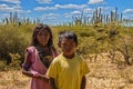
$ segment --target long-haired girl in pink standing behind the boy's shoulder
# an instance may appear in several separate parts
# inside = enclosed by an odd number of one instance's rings
[[[22,73],[32,78],[30,89],[51,89],[45,72],[57,57],[49,26],[39,23],[33,31],[31,46],[27,48]]]

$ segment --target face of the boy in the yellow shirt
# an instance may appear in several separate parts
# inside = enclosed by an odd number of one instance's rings
[[[78,47],[76,42],[73,39],[63,38],[60,47],[62,49],[63,55],[72,56]]]

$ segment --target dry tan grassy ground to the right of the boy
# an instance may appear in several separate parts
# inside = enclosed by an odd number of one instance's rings
[[[112,63],[108,55],[86,61],[91,70],[86,89],[133,89],[133,66]]]

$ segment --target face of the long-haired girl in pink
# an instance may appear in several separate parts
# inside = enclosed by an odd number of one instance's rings
[[[48,30],[40,30],[37,33],[37,40],[42,47],[47,46],[49,39],[50,39],[50,33]]]

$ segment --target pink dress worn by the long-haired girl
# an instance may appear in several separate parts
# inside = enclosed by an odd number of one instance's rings
[[[31,55],[28,58],[28,60],[31,61],[30,70],[35,73],[45,75],[48,69],[41,61],[38,50],[34,47],[29,47],[27,51]],[[53,52],[53,50],[52,50],[52,53],[53,53],[53,57],[57,57],[57,53]],[[50,88],[50,85],[44,80],[32,78],[30,89],[51,89],[51,88]]]

